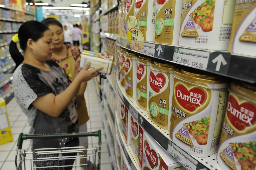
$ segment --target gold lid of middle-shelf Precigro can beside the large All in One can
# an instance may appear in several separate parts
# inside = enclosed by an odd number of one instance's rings
[[[159,71],[171,72],[174,71],[177,66],[174,64],[167,64],[167,61],[154,60],[150,63],[150,68],[157,69]]]

